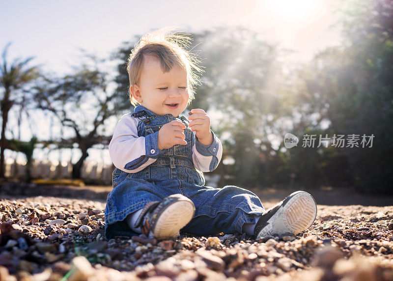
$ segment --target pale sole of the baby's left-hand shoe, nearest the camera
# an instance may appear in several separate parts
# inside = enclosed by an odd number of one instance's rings
[[[194,213],[195,206],[191,200],[170,204],[157,219],[154,236],[158,239],[177,237],[180,229],[192,220]]]

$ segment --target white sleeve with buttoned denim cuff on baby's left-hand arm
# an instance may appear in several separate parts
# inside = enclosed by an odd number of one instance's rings
[[[164,153],[158,148],[158,132],[146,137],[138,137],[139,121],[129,113],[124,114],[114,128],[109,143],[109,154],[113,165],[129,173],[139,172]]]

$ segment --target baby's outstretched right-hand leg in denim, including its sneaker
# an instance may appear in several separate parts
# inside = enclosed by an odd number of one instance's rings
[[[306,192],[294,193],[265,211],[255,194],[239,187],[194,186],[185,190],[197,211],[183,230],[199,235],[240,232],[259,238],[297,234],[307,229],[316,216],[315,200]]]

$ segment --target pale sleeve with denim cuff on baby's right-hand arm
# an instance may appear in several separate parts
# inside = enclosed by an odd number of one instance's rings
[[[223,155],[223,145],[217,136],[213,133],[213,143],[210,145],[203,145],[197,140],[195,132],[195,143],[193,145],[193,162],[195,168],[202,172],[211,172],[217,168]]]

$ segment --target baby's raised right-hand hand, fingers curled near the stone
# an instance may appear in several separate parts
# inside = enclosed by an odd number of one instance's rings
[[[192,109],[188,116],[191,121],[188,124],[192,131],[195,131],[195,135],[198,141],[203,145],[210,145],[213,143],[213,135],[210,132],[210,117],[202,109]]]

